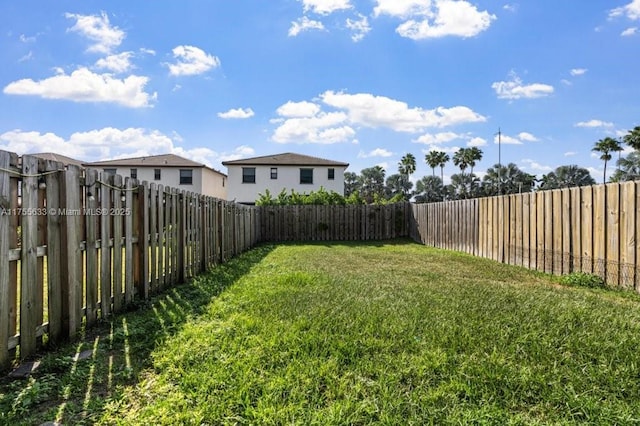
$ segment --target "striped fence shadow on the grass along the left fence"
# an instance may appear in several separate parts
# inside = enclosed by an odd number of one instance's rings
[[[26,379],[0,379],[0,424],[98,420],[105,404],[117,403],[126,387],[145,380],[158,345],[200,316],[272,249],[257,247],[86,330],[76,342],[43,355]]]

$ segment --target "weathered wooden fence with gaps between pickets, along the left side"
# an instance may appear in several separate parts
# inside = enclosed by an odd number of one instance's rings
[[[260,240],[255,207],[0,151],[0,368]]]

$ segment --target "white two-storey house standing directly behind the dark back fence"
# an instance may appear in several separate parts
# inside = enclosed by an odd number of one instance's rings
[[[349,163],[285,153],[224,161],[228,170],[227,194],[238,203],[255,204],[268,189],[277,196],[284,189],[298,193],[327,191],[344,194],[344,172]]]

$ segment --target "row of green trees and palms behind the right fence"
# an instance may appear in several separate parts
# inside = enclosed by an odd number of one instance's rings
[[[633,151],[621,156],[624,145]],[[611,175],[611,182],[640,179],[640,126],[630,130],[620,140],[606,137],[597,141],[592,149],[600,154],[604,162],[603,183],[606,182],[607,165],[618,153],[617,169]],[[494,195],[517,194],[535,190],[551,190],[575,186],[594,185],[595,179],[586,168],[577,165],[563,165],[538,179],[535,175],[522,171],[514,163],[494,164],[480,179],[473,168],[482,160],[483,152],[478,147],[460,148],[451,157],[443,151],[430,151],[424,157],[432,169],[431,176],[425,176],[415,184],[410,177],[415,172],[417,161],[413,154],[406,154],[398,163],[398,172],[386,176],[380,166],[363,169],[360,174],[345,173],[345,197],[357,194],[365,202],[381,199],[414,199],[417,203],[444,200],[461,200]],[[460,173],[451,176],[451,183],[444,184],[444,167],[451,161]],[[439,176],[436,175],[439,169]]]

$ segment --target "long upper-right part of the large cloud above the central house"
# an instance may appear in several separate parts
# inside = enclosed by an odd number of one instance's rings
[[[350,95],[326,91],[320,95],[329,106],[345,110],[349,120],[366,127],[387,127],[398,132],[415,133],[429,127],[484,122],[486,118],[465,106],[438,107],[432,110],[410,108],[405,102],[368,93]]]

